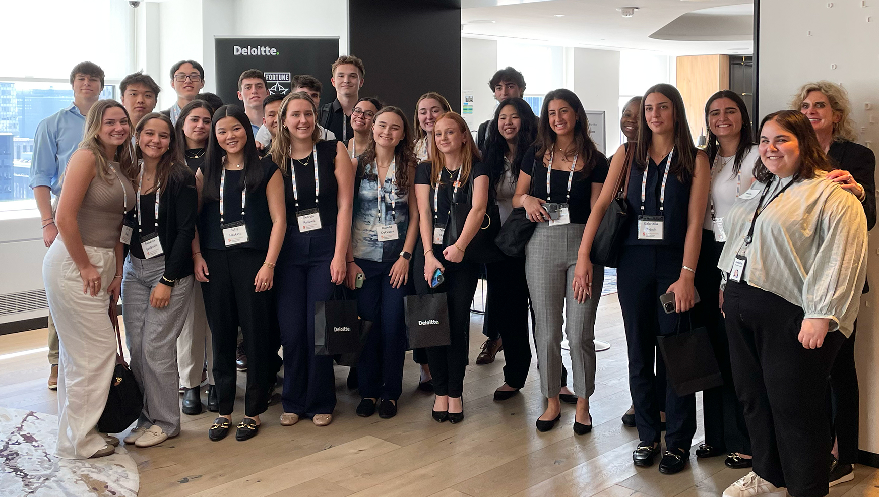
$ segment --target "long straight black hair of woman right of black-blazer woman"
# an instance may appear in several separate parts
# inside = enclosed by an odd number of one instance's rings
[[[214,113],[211,118],[211,136],[207,143],[207,156],[205,164],[202,166],[202,174],[205,175],[204,186],[202,186],[202,196],[209,200],[219,200],[220,198],[220,174],[223,168],[223,158],[226,157],[226,150],[222,150],[220,142],[217,140],[216,128],[217,122],[225,117],[234,118],[240,122],[247,133],[247,142],[244,143],[244,173],[238,183],[239,186],[247,185],[247,190],[253,192],[256,190],[263,180],[262,168],[259,166],[259,154],[257,145],[253,140],[253,128],[251,128],[251,120],[247,118],[247,114],[237,106],[222,106]]]

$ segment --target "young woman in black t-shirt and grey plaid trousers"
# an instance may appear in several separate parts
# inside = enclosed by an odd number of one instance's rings
[[[550,91],[543,99],[537,141],[525,152],[512,198],[513,206],[524,207],[528,218],[540,223],[525,247],[525,274],[537,322],[534,341],[541,365],[541,392],[548,399],[547,410],[537,419],[540,431],[549,431],[562,417],[563,323],[578,397],[574,433],[592,430],[589,396],[595,390],[595,312],[601,292],[586,296],[571,287],[577,245],[570,240],[583,237],[605,177],[607,158],[589,137],[580,99],[570,90]],[[548,202],[555,209],[544,208]],[[604,268],[596,269],[595,277],[600,289]]]

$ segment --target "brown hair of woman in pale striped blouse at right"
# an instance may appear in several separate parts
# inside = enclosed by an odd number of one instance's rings
[[[833,169],[830,160],[821,144],[818,143],[818,137],[815,135],[815,129],[812,123],[804,113],[800,111],[778,111],[771,113],[763,118],[760,122],[760,133],[763,133],[763,126],[769,122],[775,121],[781,128],[794,135],[796,141],[800,144],[800,169],[794,173],[794,178],[812,179],[815,178],[815,170],[831,171]],[[754,178],[760,183],[767,183],[773,179],[773,172],[766,168],[763,164],[763,157],[754,164]]]

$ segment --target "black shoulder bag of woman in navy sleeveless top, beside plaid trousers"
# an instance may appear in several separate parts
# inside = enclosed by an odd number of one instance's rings
[[[620,245],[622,239],[626,236],[626,228],[628,221],[628,206],[626,205],[626,196],[628,195],[628,178],[632,172],[632,160],[635,156],[635,146],[629,146],[626,143],[626,157],[623,159],[623,169],[625,174],[620,173],[617,179],[616,194],[614,200],[607,206],[604,217],[601,218],[598,232],[592,240],[592,250],[589,252],[589,259],[592,264],[604,267],[616,267],[620,257]],[[623,181],[625,177],[625,181]]]

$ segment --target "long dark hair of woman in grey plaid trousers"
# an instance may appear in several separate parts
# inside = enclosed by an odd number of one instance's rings
[[[574,111],[577,116],[577,122],[574,123],[574,145],[577,150],[570,150],[583,157],[583,169],[580,176],[585,178],[592,172],[595,167],[596,158],[600,152],[595,142],[589,137],[589,121],[586,119],[586,111],[577,95],[566,88],[559,88],[547,93],[543,98],[543,106],[541,108],[541,120],[537,125],[537,139],[534,142],[535,158],[543,160],[543,156],[547,150],[553,150],[556,143],[556,132],[549,126],[549,102],[553,100],[564,100]],[[565,150],[565,158],[568,158],[569,150]],[[552,167],[552,164],[549,164]]]

